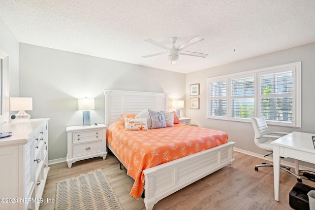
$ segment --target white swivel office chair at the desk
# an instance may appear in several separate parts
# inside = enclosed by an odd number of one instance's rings
[[[255,144],[259,147],[262,148],[266,151],[271,152],[270,154],[272,154],[273,152],[273,148],[272,148],[272,144],[270,142],[272,142],[273,140],[276,140],[278,138],[280,138],[281,136],[284,136],[288,133],[285,132],[269,132],[269,128],[267,126],[267,123],[265,121],[264,117],[254,117],[252,118],[252,126],[254,128],[254,132],[255,132]],[[264,157],[270,155],[267,154]],[[255,165],[255,171],[258,171],[258,167],[261,166],[271,166],[273,167],[273,164],[271,163],[262,163],[259,165]],[[280,166],[280,168],[288,173],[290,173],[291,175],[294,175],[295,177],[297,177],[297,180],[299,182],[302,182],[302,179],[299,175],[296,175],[294,173],[292,173],[290,171],[289,167],[285,167],[285,166]]]

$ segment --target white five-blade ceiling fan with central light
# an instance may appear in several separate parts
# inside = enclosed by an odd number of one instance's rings
[[[167,55],[167,59],[171,61],[171,64],[176,64],[176,61],[179,59],[179,55],[189,55],[189,56],[196,56],[196,57],[201,57],[201,58],[205,58],[207,57],[208,54],[204,54],[204,53],[197,53],[197,52],[189,52],[189,51],[184,51],[183,49],[189,47],[190,45],[197,43],[198,41],[203,40],[204,38],[201,38],[199,36],[196,36],[186,42],[184,42],[183,44],[179,45],[178,47],[175,47],[175,43],[177,41],[177,37],[171,37],[170,41],[173,43],[173,46],[171,48],[164,46],[163,44],[158,43],[155,40],[152,40],[151,38],[145,39],[146,42],[149,42],[151,44],[157,45],[159,47],[162,47],[164,49],[166,49],[166,52],[161,52],[161,53],[156,53],[156,54],[152,54],[152,55],[146,55],[146,56],[142,56],[143,58],[149,58],[149,57],[153,57],[153,56],[157,56],[157,55],[162,55],[162,54],[166,54]]]

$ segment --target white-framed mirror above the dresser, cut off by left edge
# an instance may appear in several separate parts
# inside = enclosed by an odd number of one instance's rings
[[[0,49],[0,124],[9,118],[9,56]]]

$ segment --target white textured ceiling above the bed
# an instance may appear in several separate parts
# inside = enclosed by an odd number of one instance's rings
[[[0,0],[18,41],[188,73],[315,41],[315,0]],[[172,65],[164,52],[204,37]]]

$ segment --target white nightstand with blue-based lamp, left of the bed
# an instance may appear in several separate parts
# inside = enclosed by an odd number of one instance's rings
[[[72,163],[88,158],[103,157],[106,152],[106,128],[104,124],[91,126],[69,126],[68,133],[68,153],[66,162],[71,168]]]

